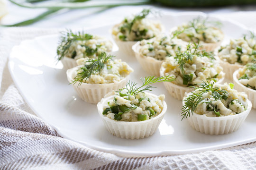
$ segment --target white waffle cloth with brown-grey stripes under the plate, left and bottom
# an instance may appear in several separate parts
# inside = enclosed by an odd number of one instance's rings
[[[0,30],[0,170],[253,170],[256,143],[218,151],[159,157],[124,158],[62,138],[35,116],[19,94],[7,68],[11,47],[59,30]]]

